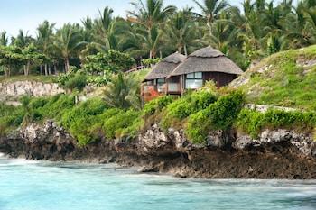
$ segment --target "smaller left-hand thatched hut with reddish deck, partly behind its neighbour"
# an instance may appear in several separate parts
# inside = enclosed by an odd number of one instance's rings
[[[170,94],[172,94],[172,90],[176,93],[180,91],[179,83],[174,84],[170,81],[170,87],[168,88],[166,78],[183,62],[185,58],[186,57],[181,53],[175,52],[164,58],[153,67],[153,70],[146,76],[146,78],[144,78],[141,88],[144,101],[149,101],[156,96],[165,95],[167,89],[170,90]]]

